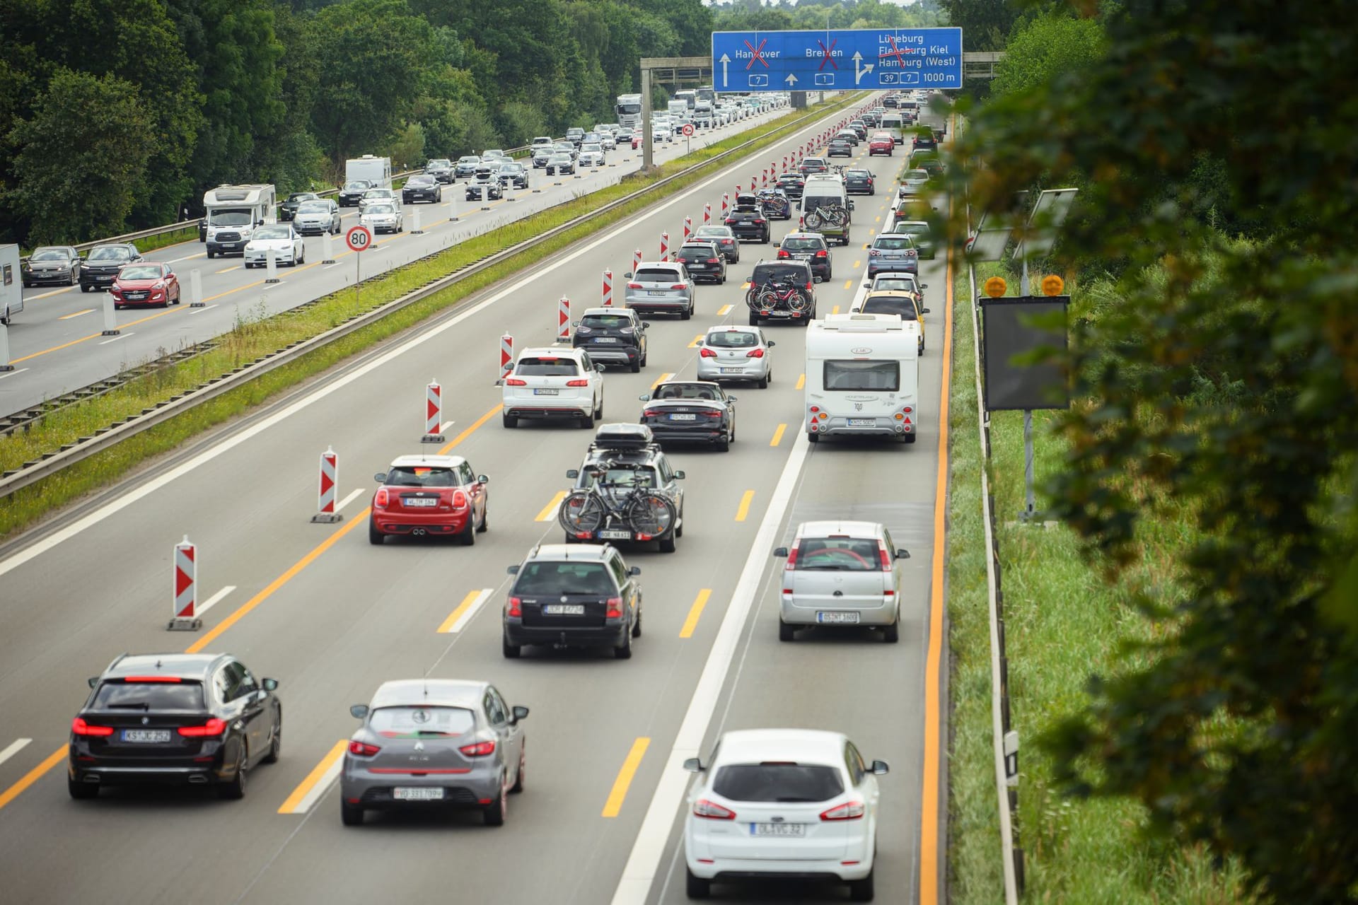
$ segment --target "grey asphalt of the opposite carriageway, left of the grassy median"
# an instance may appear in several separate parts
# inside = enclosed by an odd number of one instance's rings
[[[706,147],[746,129],[767,123],[789,113],[788,107],[747,117],[720,129],[699,130],[691,138],[693,148]],[[656,163],[664,163],[686,152],[683,137],[656,145]],[[767,166],[767,160],[765,161]],[[527,166],[527,164],[526,164]],[[213,258],[208,261],[206,246],[186,242],[147,252],[147,261],[168,262],[179,275],[183,304],[170,308],[128,308],[114,312],[121,331],[105,336],[105,301],[107,293],[80,292],[80,286],[34,286],[23,290],[24,309],[10,326],[10,361],[12,372],[0,373],[0,414],[11,414],[43,399],[87,387],[145,361],[202,342],[231,330],[240,320],[257,320],[265,315],[293,308],[353,285],[359,275],[378,273],[406,265],[471,236],[488,232],[513,220],[527,217],[573,197],[617,185],[630,172],[641,168],[641,149],[630,145],[608,153],[603,167],[581,168],[574,176],[547,176],[546,170],[530,170],[528,190],[519,189],[509,199],[489,202],[466,201],[460,180],[443,190],[440,204],[405,205],[405,232],[375,236],[372,248],[354,255],[345,247],[344,233],[331,239],[331,254],[326,254],[325,236],[307,236],[306,263],[297,267],[278,267],[278,282],[266,284],[263,269],[246,270],[240,258]],[[717,202],[720,205],[720,197]],[[713,205],[713,210],[718,210]],[[357,208],[342,208],[342,228],[359,223]],[[697,214],[701,217],[702,210]],[[414,235],[414,217],[420,217],[422,235]],[[456,223],[449,217],[458,217]],[[675,236],[678,233],[671,233]],[[656,242],[659,242],[659,235]],[[626,258],[611,262],[617,274],[627,270],[631,248]],[[646,248],[650,254],[659,250]],[[361,258],[361,262],[356,261]],[[333,265],[323,263],[334,261]],[[197,271],[202,282],[202,308],[190,308],[191,274]],[[591,296],[591,299],[595,296]],[[619,296],[621,299],[621,296]]]

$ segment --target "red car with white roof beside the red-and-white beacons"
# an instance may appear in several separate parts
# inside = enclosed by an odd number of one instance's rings
[[[485,475],[477,475],[462,456],[401,456],[378,475],[372,495],[368,541],[387,535],[456,537],[464,547],[477,543],[486,521]]]

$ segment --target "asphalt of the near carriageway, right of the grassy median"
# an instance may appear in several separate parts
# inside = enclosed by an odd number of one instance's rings
[[[807,132],[813,132],[808,129]],[[781,157],[804,136],[759,152]],[[865,145],[860,156],[866,151]],[[854,240],[835,248],[822,315],[861,292],[865,243],[889,221],[904,156],[861,160],[881,191],[858,198]],[[551,342],[555,301],[626,270],[758,161],[736,164],[599,237],[564,251],[454,312],[345,365],[293,396],[144,469],[79,512],[0,550],[0,898],[12,902],[391,902],[448,900],[641,905],[683,894],[683,757],[718,733],[755,726],[837,729],[883,758],[877,901],[937,901],[942,860],[938,741],[942,659],[940,400],[947,396],[942,256],[923,262],[928,351],[919,441],[822,442],[801,431],[805,331],[771,326],[774,380],[736,387],[729,453],[671,450],[687,472],[675,554],[625,548],[642,570],[645,635],[630,661],[608,651],[500,653],[505,566],[557,543],[553,512],[592,431],[505,430],[496,379],[507,326]],[[778,223],[777,240],[792,224]],[[405,242],[405,240],[402,240]],[[746,323],[741,281],[775,246],[746,246],[725,286],[698,290],[690,322],[649,317],[650,358],[606,376],[606,421],[634,421],[637,396],[691,377],[710,324]],[[213,262],[216,263],[216,262]],[[80,301],[76,296],[72,303]],[[178,316],[178,315],[177,315]],[[424,385],[444,385],[449,452],[490,478],[490,531],[475,547],[368,544],[372,474],[429,450]],[[316,457],[340,455],[344,521],[310,521]],[[796,522],[885,522],[903,563],[900,643],[850,630],[777,640],[781,560]],[[198,544],[202,631],[168,634],[171,550]],[[440,631],[443,630],[443,631]],[[69,720],[86,678],[121,651],[230,651],[277,677],[282,758],[250,773],[243,801],[212,790],[106,790],[77,802],[64,784]],[[527,782],[508,822],[479,814],[371,813],[340,822],[333,783],[356,723],[348,708],[384,680],[483,678],[526,704]],[[945,735],[944,735],[945,737]],[[717,887],[722,901],[842,900],[842,887]]]

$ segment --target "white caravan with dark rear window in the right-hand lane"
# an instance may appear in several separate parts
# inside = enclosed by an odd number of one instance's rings
[[[919,324],[898,315],[827,315],[807,327],[807,440],[919,431]]]

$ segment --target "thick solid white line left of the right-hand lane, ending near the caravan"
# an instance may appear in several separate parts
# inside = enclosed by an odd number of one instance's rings
[[[774,487],[773,498],[769,501],[769,510],[763,521],[759,522],[759,532],[750,547],[750,556],[740,571],[740,581],[731,597],[731,606],[721,620],[717,638],[712,643],[708,662],[702,668],[702,676],[694,688],[689,710],[684,712],[679,734],[675,735],[674,748],[660,773],[656,792],[650,796],[650,806],[641,821],[641,830],[637,841],[631,845],[631,855],[622,868],[622,879],[612,894],[612,905],[645,905],[650,894],[650,885],[660,867],[660,859],[669,840],[669,829],[675,822],[675,813],[683,802],[684,791],[689,787],[689,773],[683,769],[683,763],[689,757],[698,757],[703,735],[712,725],[712,716],[717,710],[717,700],[721,696],[721,687],[727,681],[727,673],[736,655],[736,644],[744,631],[746,620],[759,593],[759,578],[769,564],[769,551],[782,518],[792,503],[792,491],[801,475],[801,465],[807,460],[811,444],[793,442],[788,464],[782,468],[778,484]]]

